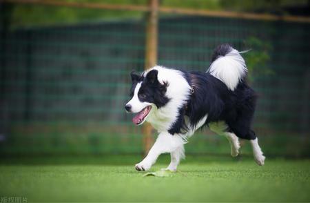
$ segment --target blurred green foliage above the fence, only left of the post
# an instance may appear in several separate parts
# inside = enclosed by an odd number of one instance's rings
[[[72,0],[71,0],[72,1]],[[145,4],[146,0],[76,0],[76,2],[113,3],[113,4]],[[142,17],[143,12],[119,10],[94,10],[87,8],[68,8],[61,6],[40,6],[13,4],[11,28],[23,26],[49,26],[61,23],[83,23],[99,19]]]

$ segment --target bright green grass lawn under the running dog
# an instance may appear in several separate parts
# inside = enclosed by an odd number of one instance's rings
[[[134,170],[140,161],[136,156],[60,160],[2,159],[0,196],[29,202],[310,201],[309,160],[267,159],[260,167],[252,159],[228,155],[188,157],[172,177],[143,177]],[[167,164],[164,156],[152,171]]]

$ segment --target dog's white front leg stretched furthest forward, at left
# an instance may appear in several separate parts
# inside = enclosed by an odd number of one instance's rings
[[[156,162],[159,155],[162,153],[171,153],[178,147],[183,146],[185,141],[179,135],[171,135],[168,132],[160,133],[155,144],[149,150],[147,156],[142,162],[136,164],[136,170],[147,171]]]

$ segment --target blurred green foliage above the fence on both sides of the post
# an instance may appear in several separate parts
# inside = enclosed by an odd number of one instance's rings
[[[146,5],[147,0],[69,0],[70,2],[113,3]],[[208,10],[232,10],[286,14],[286,6],[306,6],[307,0],[162,0],[161,6]],[[3,6],[4,7],[4,6]],[[49,26],[63,23],[100,21],[101,19],[141,18],[143,12],[93,10],[54,6],[10,4],[2,17],[8,19],[10,28],[23,26]],[[3,12],[3,11],[2,11]],[[4,13],[4,12],[3,12]]]

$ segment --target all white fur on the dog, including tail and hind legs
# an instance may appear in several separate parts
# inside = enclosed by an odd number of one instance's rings
[[[182,72],[179,70],[168,69],[161,66],[155,66],[143,73],[144,77],[150,70],[158,70],[158,81],[161,84],[168,83],[165,96],[170,101],[162,108],[157,108],[154,104],[147,102],[141,102],[138,99],[138,90],[141,88],[142,82],[136,85],[134,90],[134,97],[127,103],[132,105],[132,111],[138,113],[146,106],[152,105],[152,110],[147,115],[146,120],[156,130],[159,135],[155,144],[150,149],[149,153],[143,161],[136,164],[136,169],[139,171],[147,171],[156,162],[159,155],[162,153],[170,153],[171,162],[166,168],[169,171],[176,171],[176,168],[181,159],[185,158],[184,144],[187,143],[187,139],[194,134],[194,132],[205,124],[207,115],[201,119],[196,126],[189,126],[188,117],[185,117],[185,124],[189,127],[189,131],[185,135],[174,134],[170,135],[167,131],[176,122],[178,117],[178,108],[183,106],[190,95],[191,87],[183,77]],[[209,71],[211,75],[217,77],[223,81],[227,87],[234,90],[238,85],[238,82],[247,72],[245,67],[245,61],[240,56],[237,50],[232,50],[225,57],[216,59],[211,64]],[[225,132],[227,125],[225,122],[217,122],[209,124],[211,131],[214,131],[218,135],[224,135],[231,145],[231,155],[237,156],[239,153],[240,144],[238,137],[234,133]],[[258,146],[257,139],[252,140],[254,158],[259,165],[264,164],[265,157],[262,155],[262,151]]]

